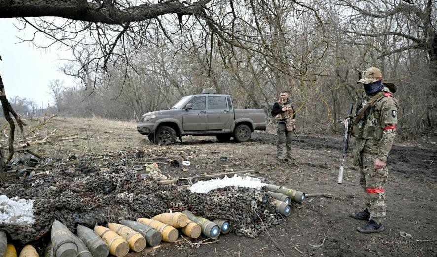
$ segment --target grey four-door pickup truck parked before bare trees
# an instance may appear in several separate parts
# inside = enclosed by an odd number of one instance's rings
[[[216,136],[220,142],[251,138],[254,130],[266,129],[264,109],[234,109],[229,95],[204,89],[202,94],[184,96],[170,109],[141,116],[138,132],[155,144],[182,142],[182,136]]]

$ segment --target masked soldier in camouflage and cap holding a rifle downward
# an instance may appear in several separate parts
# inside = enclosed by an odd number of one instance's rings
[[[367,97],[352,122],[352,135],[356,137],[353,155],[354,165],[360,168],[360,184],[368,209],[351,216],[368,220],[357,227],[359,232],[376,233],[384,230],[381,221],[386,217],[386,161],[395,139],[398,102],[392,95],[395,85],[383,83],[378,68],[366,69],[358,83],[363,84]]]

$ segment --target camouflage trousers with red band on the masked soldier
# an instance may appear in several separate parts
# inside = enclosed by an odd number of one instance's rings
[[[387,181],[387,166],[374,169],[376,154],[362,153],[362,166],[360,166],[360,185],[364,190],[364,203],[369,207],[370,219],[381,223],[386,217],[386,202],[384,184]]]

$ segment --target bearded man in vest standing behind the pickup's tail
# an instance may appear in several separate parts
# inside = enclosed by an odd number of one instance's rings
[[[290,162],[294,158],[291,157],[291,139],[293,129],[295,129],[296,113],[294,112],[291,100],[288,98],[286,91],[279,94],[281,97],[279,101],[275,102],[272,107],[272,116],[275,117],[278,122],[276,133],[278,135],[278,143],[276,145],[277,159],[279,161]],[[286,156],[282,157],[282,151],[284,147],[284,141],[286,141]]]

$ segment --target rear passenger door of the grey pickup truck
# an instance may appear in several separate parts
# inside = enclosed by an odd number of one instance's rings
[[[225,128],[231,118],[226,96],[208,96],[208,130]]]

